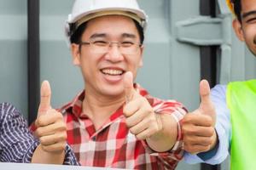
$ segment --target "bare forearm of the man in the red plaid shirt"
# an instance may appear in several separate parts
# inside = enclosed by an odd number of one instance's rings
[[[169,114],[160,114],[162,130],[146,139],[148,146],[157,152],[171,150],[177,140],[177,122]]]

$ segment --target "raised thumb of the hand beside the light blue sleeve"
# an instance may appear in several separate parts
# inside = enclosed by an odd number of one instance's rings
[[[209,115],[215,121],[215,109],[210,98],[210,86],[207,80],[202,80],[200,82],[200,96],[201,96],[201,105],[200,111],[204,115]]]

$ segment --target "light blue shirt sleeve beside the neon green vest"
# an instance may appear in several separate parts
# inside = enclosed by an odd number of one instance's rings
[[[211,90],[211,99],[215,105],[217,119],[215,130],[218,135],[218,145],[211,151],[197,155],[184,154],[187,163],[219,164],[229,155],[229,144],[231,139],[230,110],[226,105],[226,86],[217,85]]]

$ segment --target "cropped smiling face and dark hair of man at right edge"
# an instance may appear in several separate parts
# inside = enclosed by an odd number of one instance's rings
[[[256,0],[241,0],[241,22],[233,21],[237,37],[256,56]]]

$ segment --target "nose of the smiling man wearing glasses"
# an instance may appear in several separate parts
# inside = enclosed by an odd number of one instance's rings
[[[117,43],[112,43],[109,47],[108,54],[105,56],[111,62],[119,62],[124,59],[123,54],[120,53],[119,45]]]

